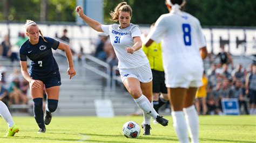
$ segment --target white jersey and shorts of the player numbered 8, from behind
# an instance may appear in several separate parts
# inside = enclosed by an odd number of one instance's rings
[[[190,82],[181,83],[201,80],[203,60],[199,48],[205,47],[206,43],[197,18],[172,10],[158,18],[149,38],[156,42],[161,40],[166,87],[188,88]]]

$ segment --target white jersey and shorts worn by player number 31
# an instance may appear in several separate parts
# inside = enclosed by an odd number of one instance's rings
[[[152,81],[152,72],[149,60],[140,48],[133,54],[127,53],[125,48],[132,47],[133,37],[140,37],[142,34],[138,25],[121,29],[118,24],[102,25],[102,30],[106,35],[110,35],[110,41],[118,59],[118,68],[122,81],[127,77],[138,78],[140,82]]]

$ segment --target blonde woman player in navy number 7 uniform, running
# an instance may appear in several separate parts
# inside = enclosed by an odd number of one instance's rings
[[[29,40],[24,42],[19,49],[21,73],[30,83],[33,111],[36,122],[40,128],[38,133],[45,133],[45,125],[50,124],[52,118],[51,113],[57,109],[59,86],[62,84],[60,82],[57,62],[52,55],[52,49],[56,50],[58,48],[65,51],[69,64],[68,75],[70,79],[76,75],[76,71],[73,66],[71,50],[68,45],[49,37],[43,37],[38,25],[32,20],[26,20],[25,28]],[[26,56],[31,60],[29,73],[26,65]],[[45,117],[42,109],[44,84],[47,95]]]

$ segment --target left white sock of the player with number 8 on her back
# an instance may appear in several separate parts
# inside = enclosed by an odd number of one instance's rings
[[[172,120],[179,142],[189,142],[187,125],[183,111],[172,111]]]

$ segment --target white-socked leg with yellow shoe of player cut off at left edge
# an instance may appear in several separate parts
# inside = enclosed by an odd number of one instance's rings
[[[0,73],[0,93],[1,93],[1,81],[2,81],[2,74]],[[9,126],[9,129],[4,137],[12,137],[15,133],[19,132],[19,127],[14,123],[12,120],[11,113],[9,112],[7,106],[0,101],[0,115],[6,121]]]

